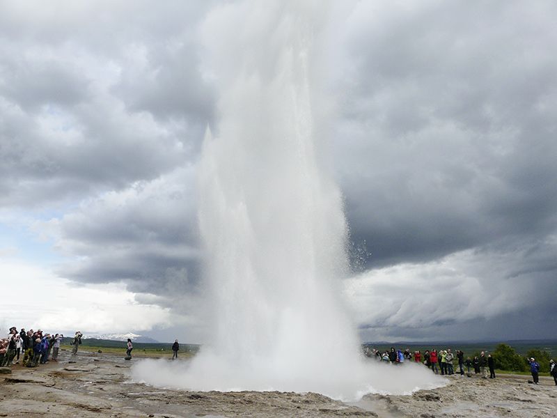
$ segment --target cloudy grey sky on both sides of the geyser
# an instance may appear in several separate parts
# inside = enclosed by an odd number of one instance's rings
[[[201,32],[249,5],[0,2],[0,332],[203,342],[196,175],[219,91]],[[553,338],[557,3],[329,8],[361,339]]]

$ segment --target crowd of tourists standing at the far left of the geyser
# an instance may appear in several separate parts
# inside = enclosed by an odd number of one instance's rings
[[[81,336],[81,332],[75,333],[71,341],[72,354],[77,353]],[[63,334],[49,334],[42,330],[25,331],[25,328],[18,332],[17,327],[11,327],[8,336],[0,339],[0,367],[13,364],[36,367],[49,361],[58,362],[58,352],[63,338]]]

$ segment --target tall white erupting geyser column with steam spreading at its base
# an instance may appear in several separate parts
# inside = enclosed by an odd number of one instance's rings
[[[322,112],[312,103],[322,68],[312,46],[324,16],[321,2],[313,6],[236,3],[205,23],[205,64],[219,90],[199,199],[213,340],[184,369],[146,361],[136,378],[336,398],[436,385],[418,365],[365,362],[339,300],[347,227],[317,153]]]

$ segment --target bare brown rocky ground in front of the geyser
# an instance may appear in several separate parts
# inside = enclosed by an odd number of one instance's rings
[[[540,378],[451,377],[412,396],[368,395],[358,403],[320,394],[185,392],[130,380],[131,362],[102,353],[62,352],[35,369],[0,375],[0,417],[557,417],[557,387]]]

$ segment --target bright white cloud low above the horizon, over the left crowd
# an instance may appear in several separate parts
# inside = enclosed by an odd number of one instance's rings
[[[44,268],[0,259],[2,284],[10,288],[0,304],[1,327],[47,332],[130,332],[167,327],[179,320],[168,309],[136,302],[123,284],[75,286]]]

